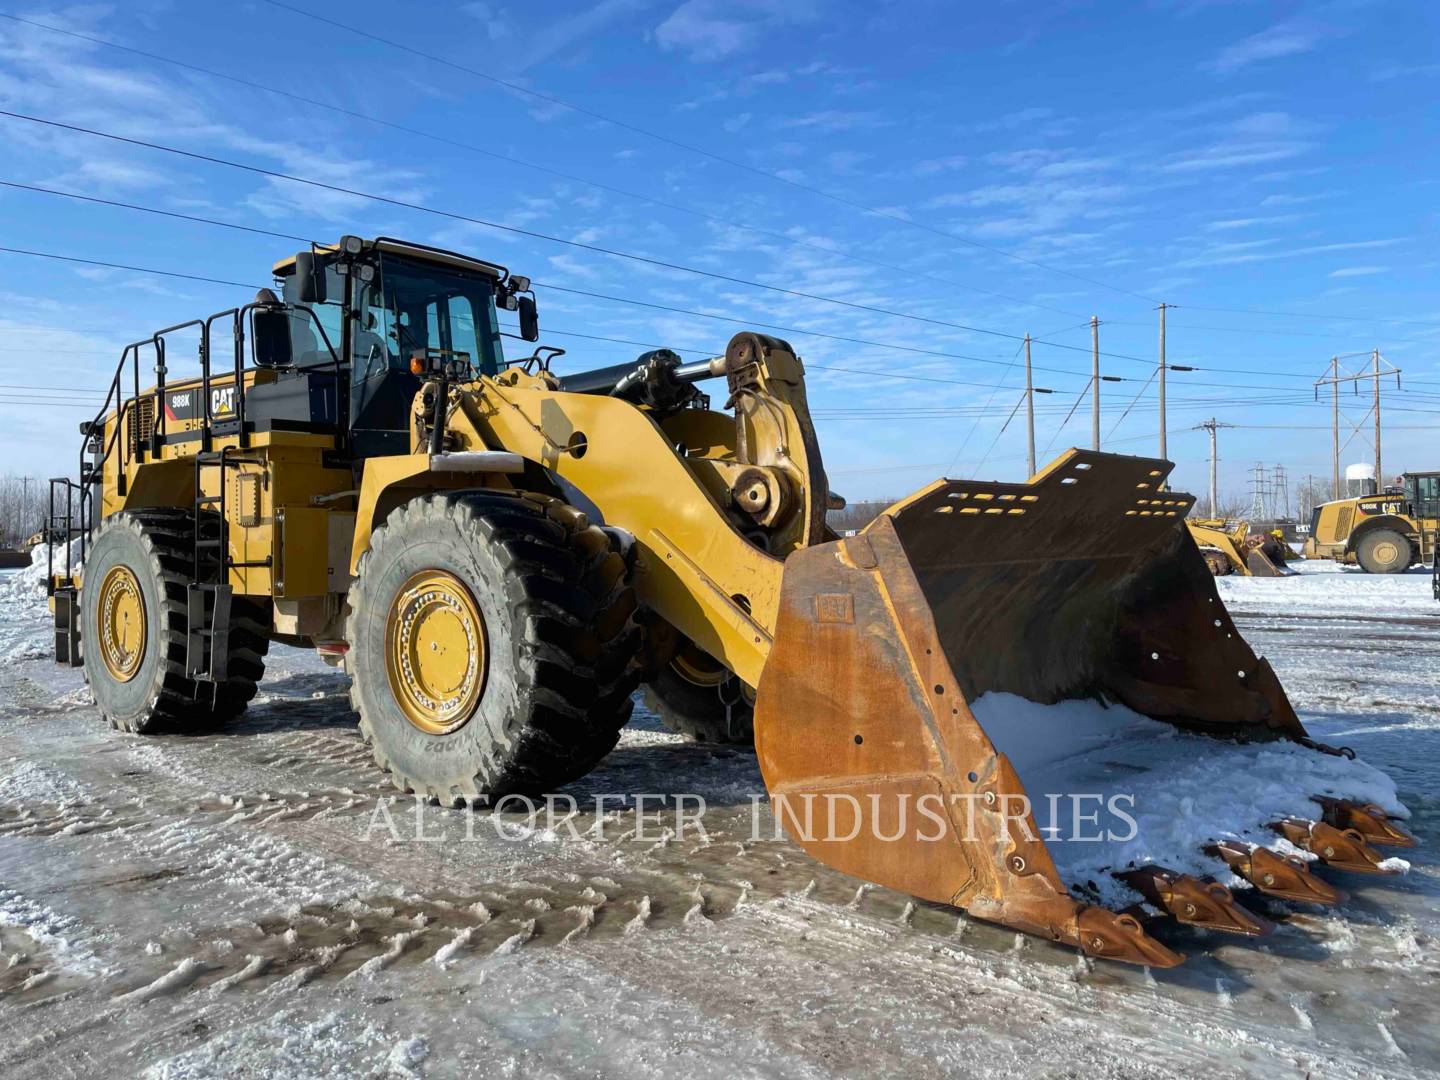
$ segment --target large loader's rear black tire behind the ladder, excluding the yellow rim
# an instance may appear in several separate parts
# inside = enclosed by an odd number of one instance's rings
[[[193,520],[183,510],[130,510],[105,518],[86,553],[81,580],[85,681],[101,714],[121,732],[202,730],[233,720],[265,675],[268,608],[236,596],[230,603],[228,678],[215,688],[215,704],[209,685],[186,677],[186,586],[193,570]],[[135,575],[147,624],[145,655],[124,683],[111,675],[99,649],[89,644],[99,632],[95,593],[120,564]]]

